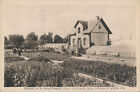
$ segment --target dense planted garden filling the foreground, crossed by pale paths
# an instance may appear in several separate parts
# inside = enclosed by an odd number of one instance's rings
[[[105,81],[136,86],[136,67],[72,59],[70,54],[55,52],[22,53],[25,60],[5,52],[5,87],[110,87],[95,79],[82,78],[84,73]],[[64,61],[54,65],[51,60]]]

